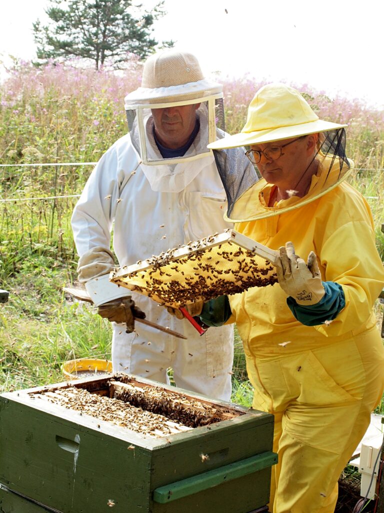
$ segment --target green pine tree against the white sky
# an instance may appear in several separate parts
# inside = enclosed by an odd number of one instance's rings
[[[163,1],[151,12],[132,0],[49,0],[46,13],[52,24],[33,24],[39,59],[88,58],[96,69],[104,63],[119,67],[130,53],[141,59],[152,53],[153,23],[163,16]],[[173,41],[163,42],[173,46]]]

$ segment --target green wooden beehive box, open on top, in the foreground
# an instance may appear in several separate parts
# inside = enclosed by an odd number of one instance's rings
[[[134,415],[131,424],[124,415]],[[268,413],[122,374],[8,392],[0,505],[4,513],[248,513],[268,502],[272,438]]]

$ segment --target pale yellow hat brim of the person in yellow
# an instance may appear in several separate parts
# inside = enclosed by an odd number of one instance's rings
[[[219,139],[208,144],[208,148],[212,150],[221,150],[224,148],[237,148],[238,146],[250,146],[252,144],[271,143],[273,141],[281,141],[298,137],[300,135],[309,135],[317,132],[327,132],[328,130],[337,130],[345,128],[347,125],[339,125],[330,121],[310,121],[300,125],[291,125],[279,128],[268,128],[266,130],[258,130],[255,132],[240,132],[234,135],[228,135],[223,139]]]

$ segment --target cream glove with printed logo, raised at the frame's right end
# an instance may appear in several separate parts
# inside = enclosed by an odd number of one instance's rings
[[[293,244],[287,242],[279,248],[276,259],[276,271],[281,288],[290,295],[298,305],[315,305],[325,294],[316,255],[311,251],[307,264],[295,254]]]

